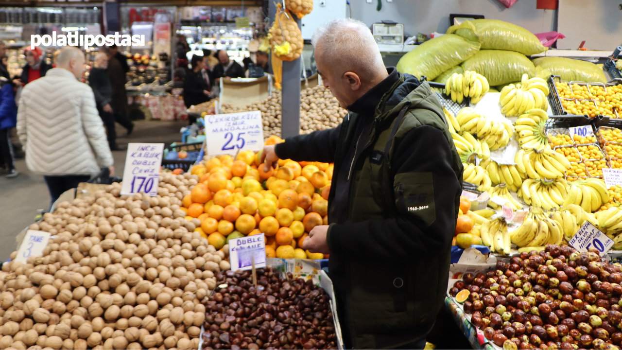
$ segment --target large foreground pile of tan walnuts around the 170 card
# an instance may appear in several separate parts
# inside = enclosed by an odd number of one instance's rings
[[[197,349],[214,273],[230,269],[179,209],[197,181],[160,174],[157,197],[114,183],[30,225],[57,237],[2,265],[0,349]]]

